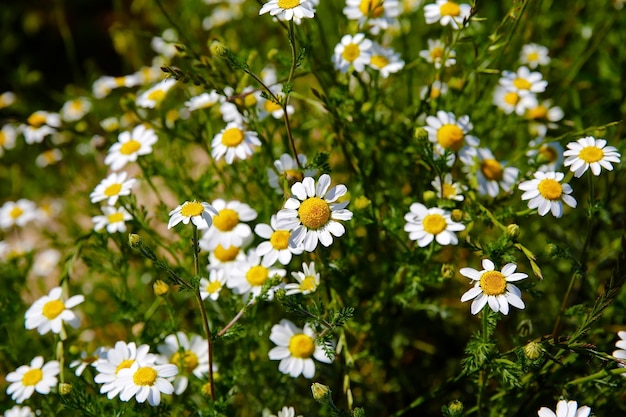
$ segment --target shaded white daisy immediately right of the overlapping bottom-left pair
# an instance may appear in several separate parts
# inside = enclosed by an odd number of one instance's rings
[[[189,385],[189,374],[202,379],[209,372],[209,346],[206,339],[192,335],[191,339],[183,332],[167,336],[157,347],[164,363],[178,367],[178,375],[172,381],[174,393],[180,395]]]

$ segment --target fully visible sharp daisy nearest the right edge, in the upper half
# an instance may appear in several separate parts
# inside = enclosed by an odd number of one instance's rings
[[[563,165],[570,167],[576,178],[580,178],[589,168],[595,176],[600,175],[602,168],[613,171],[611,162],[619,164],[621,156],[616,147],[606,146],[606,140],[593,136],[568,143],[563,155],[566,157]]]

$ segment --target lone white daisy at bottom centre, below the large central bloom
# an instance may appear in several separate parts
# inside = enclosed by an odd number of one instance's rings
[[[280,360],[278,370],[293,378],[300,375],[311,379],[315,375],[313,358],[323,363],[332,363],[324,348],[315,343],[315,333],[308,324],[304,329],[283,319],[272,326],[270,340],[277,346],[269,351],[271,360]]]

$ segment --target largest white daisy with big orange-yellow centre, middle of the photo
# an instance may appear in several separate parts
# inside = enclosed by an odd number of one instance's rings
[[[313,252],[317,243],[328,247],[333,236],[340,237],[346,232],[338,220],[352,219],[352,212],[346,209],[349,201],[337,202],[348,192],[345,185],[339,184],[330,190],[330,176],[323,174],[315,184],[311,177],[305,177],[291,187],[293,197],[285,203],[285,208],[276,215],[276,227],[290,230],[289,245],[304,246]]]

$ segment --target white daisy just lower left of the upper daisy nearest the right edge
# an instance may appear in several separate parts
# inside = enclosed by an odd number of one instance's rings
[[[540,216],[545,216],[551,211],[554,217],[561,217],[562,203],[572,208],[576,207],[576,200],[570,195],[572,187],[569,184],[561,184],[565,175],[554,171],[537,171],[534,177],[535,179],[524,181],[519,185],[519,189],[524,191],[522,200],[530,200],[528,208],[537,208]]]

